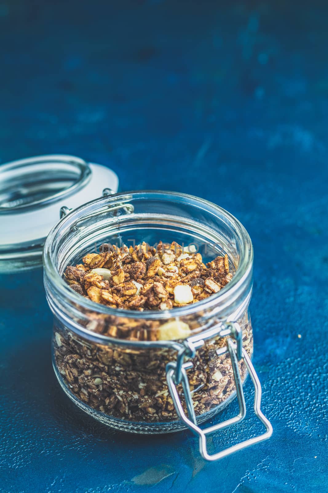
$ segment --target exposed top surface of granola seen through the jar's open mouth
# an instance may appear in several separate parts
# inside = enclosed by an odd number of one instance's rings
[[[157,248],[109,247],[88,253],[83,263],[68,266],[71,288],[96,303],[125,310],[171,310],[217,293],[231,279],[228,255],[206,265],[195,246],[176,242]]]

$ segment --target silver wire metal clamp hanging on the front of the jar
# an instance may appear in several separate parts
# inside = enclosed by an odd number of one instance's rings
[[[197,425],[197,419],[195,415],[195,410],[193,406],[193,401],[192,401],[192,395],[190,392],[190,387],[189,387],[189,381],[188,381],[188,376],[186,374],[186,370],[188,368],[191,368],[192,362],[187,361],[187,362],[182,362],[183,357],[193,357],[194,356],[194,351],[196,347],[201,347],[204,344],[205,339],[209,339],[209,337],[206,337],[206,335],[213,336],[215,335],[213,331],[216,329],[216,335],[219,337],[228,337],[227,339],[227,348],[223,348],[223,352],[221,350],[217,351],[217,354],[224,354],[226,352],[229,352],[230,358],[231,358],[231,364],[232,364],[232,369],[234,373],[234,379],[235,379],[235,384],[236,384],[236,390],[237,390],[237,398],[238,398],[238,403],[239,403],[239,414],[235,416],[234,418],[231,418],[229,420],[226,420],[222,423],[217,423],[213,426],[209,426],[209,428],[206,428],[202,430],[198,425]],[[207,334],[208,333],[208,334]],[[234,452],[237,452],[241,449],[244,449],[246,447],[249,447],[250,445],[253,445],[255,443],[262,442],[263,440],[267,440],[271,435],[272,435],[272,426],[271,423],[268,421],[268,419],[263,415],[261,411],[261,396],[262,396],[262,388],[261,384],[259,381],[259,378],[255,372],[254,366],[247,354],[247,352],[242,348],[242,333],[241,329],[239,327],[239,324],[236,322],[232,322],[229,324],[218,324],[215,327],[212,327],[212,329],[209,329],[209,331],[206,331],[205,333],[203,332],[200,336],[202,336],[202,339],[197,340],[197,335],[193,336],[191,338],[188,338],[185,341],[184,348],[185,351],[182,352],[180,350],[178,352],[178,358],[177,361],[173,361],[167,364],[166,366],[166,380],[167,380],[167,385],[170,390],[171,397],[173,399],[173,403],[175,406],[175,409],[177,411],[177,414],[180,418],[180,420],[183,421],[183,423],[186,424],[188,428],[191,429],[193,433],[199,436],[199,449],[201,456],[206,459],[206,460],[218,460],[223,457],[226,457],[230,454],[233,454]],[[204,337],[205,336],[205,337]],[[236,343],[233,342],[233,339],[235,339]],[[239,357],[240,355],[240,357]],[[243,442],[239,442],[236,445],[233,445],[232,447],[229,447],[221,452],[218,452],[213,455],[209,455],[207,451],[207,435],[214,433],[215,431],[218,431],[219,429],[226,428],[228,426],[231,426],[232,424],[239,423],[244,419],[246,416],[246,405],[245,405],[245,398],[244,398],[244,393],[242,389],[242,381],[241,381],[241,376],[239,372],[239,366],[238,366],[238,360],[243,359],[246,368],[250,374],[251,380],[253,382],[253,385],[255,387],[255,397],[254,397],[254,413],[255,415],[259,418],[261,423],[263,423],[266,427],[266,432],[256,436],[254,438],[250,438],[248,440],[245,440]],[[180,379],[179,379],[180,377]],[[187,407],[187,412],[188,416],[184,413],[182,403],[179,397],[177,385],[181,383],[182,388],[183,388],[183,394],[184,394],[184,399]]]

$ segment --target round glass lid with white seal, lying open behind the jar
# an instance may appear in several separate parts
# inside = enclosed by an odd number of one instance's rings
[[[118,176],[105,166],[68,155],[0,165],[0,272],[42,266],[42,248],[62,210],[116,193]]]

